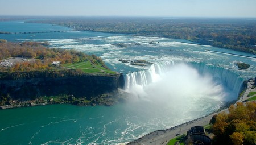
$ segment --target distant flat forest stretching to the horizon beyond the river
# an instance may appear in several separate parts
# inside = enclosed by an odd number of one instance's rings
[[[48,18],[30,23],[52,23],[76,31],[138,36],[161,36],[256,54],[253,18]]]

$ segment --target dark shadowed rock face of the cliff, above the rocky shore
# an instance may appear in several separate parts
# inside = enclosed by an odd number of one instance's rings
[[[122,74],[109,76],[96,76],[83,74],[81,76],[61,78],[30,78],[18,80],[1,80],[1,95],[11,98],[30,98],[39,96],[56,96],[60,94],[72,94],[75,97],[90,98],[104,93],[109,93],[123,88]]]

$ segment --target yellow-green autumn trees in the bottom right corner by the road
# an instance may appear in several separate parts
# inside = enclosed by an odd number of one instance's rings
[[[210,121],[214,138],[212,144],[254,145],[256,143],[256,103],[237,103],[214,115]]]

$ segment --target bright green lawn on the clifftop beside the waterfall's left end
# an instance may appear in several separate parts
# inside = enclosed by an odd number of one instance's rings
[[[84,61],[80,63],[67,63],[63,64],[63,67],[69,69],[81,69],[85,73],[116,74],[116,72],[103,68],[100,65],[92,64],[90,61]]]

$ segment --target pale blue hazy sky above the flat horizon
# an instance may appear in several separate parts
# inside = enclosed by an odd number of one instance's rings
[[[256,17],[256,0],[0,0],[0,15]]]

